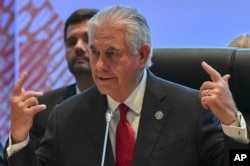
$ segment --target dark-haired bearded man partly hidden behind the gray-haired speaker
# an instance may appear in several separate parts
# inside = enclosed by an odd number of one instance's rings
[[[47,108],[45,111],[35,115],[33,126],[30,130],[30,138],[35,148],[38,147],[44,136],[48,117],[54,106],[94,84],[87,48],[87,23],[96,13],[97,10],[95,9],[78,9],[65,22],[64,43],[66,59],[69,71],[74,76],[76,83],[49,91],[39,99],[39,103],[47,105]]]

